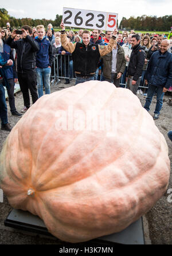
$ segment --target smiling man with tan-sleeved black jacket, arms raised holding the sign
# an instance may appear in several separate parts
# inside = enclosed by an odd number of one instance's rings
[[[61,44],[66,51],[71,52],[73,59],[74,71],[76,74],[76,84],[81,82],[94,80],[94,75],[98,66],[100,56],[106,55],[111,52],[116,45],[116,34],[118,32],[115,29],[112,38],[107,46],[100,46],[99,44],[90,43],[89,31],[83,31],[82,43],[69,42],[65,33],[64,23],[61,21]]]

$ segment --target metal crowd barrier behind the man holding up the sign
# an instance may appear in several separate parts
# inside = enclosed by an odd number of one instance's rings
[[[73,61],[71,58],[72,55],[61,55],[57,54],[54,56],[54,62],[53,62],[53,74],[51,76],[52,78],[52,84],[56,82],[56,85],[58,82],[60,82],[60,78],[63,79],[76,79],[74,76],[73,71]],[[148,62],[147,62],[148,65]],[[146,67],[147,69],[147,67]],[[120,81],[122,81],[123,76],[120,78]],[[120,83],[120,86],[127,88],[127,81],[125,84]],[[145,85],[145,81],[142,86],[139,85],[139,88],[147,89],[148,86]]]

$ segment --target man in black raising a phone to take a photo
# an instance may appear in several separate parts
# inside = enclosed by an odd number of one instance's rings
[[[18,82],[24,97],[25,112],[30,107],[29,91],[32,95],[33,104],[38,99],[36,89],[36,53],[40,49],[32,37],[32,28],[25,25],[22,27],[23,39],[14,41],[16,30],[7,39],[6,43],[11,48],[17,49],[17,74]]]

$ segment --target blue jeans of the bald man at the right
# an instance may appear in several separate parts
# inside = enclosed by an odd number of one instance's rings
[[[161,108],[162,108],[163,96],[164,96],[163,87],[161,87],[161,86],[154,86],[154,85],[150,85],[150,84],[148,85],[147,98],[146,98],[146,103],[144,105],[144,108],[147,111],[150,110],[150,104],[151,104],[151,101],[153,99],[156,89],[157,89],[157,104],[155,107],[154,114],[159,114],[159,112],[161,111]]]

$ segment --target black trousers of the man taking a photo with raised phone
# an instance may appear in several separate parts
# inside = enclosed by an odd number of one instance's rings
[[[19,86],[21,88],[23,97],[24,97],[24,105],[26,108],[30,107],[30,97],[29,97],[29,91],[32,96],[32,103],[34,104],[37,99],[37,77],[36,73],[18,73],[18,82]]]

